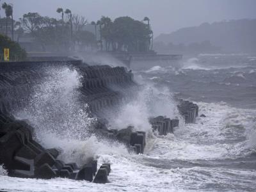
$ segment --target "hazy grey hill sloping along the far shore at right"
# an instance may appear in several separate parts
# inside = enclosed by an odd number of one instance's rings
[[[155,38],[159,44],[189,46],[210,42],[225,52],[256,52],[256,19],[229,20],[203,23],[200,26],[182,28]]]

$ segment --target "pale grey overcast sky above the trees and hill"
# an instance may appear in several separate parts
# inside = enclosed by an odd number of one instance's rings
[[[147,16],[155,36],[202,22],[256,19],[256,0],[1,0],[3,2],[13,4],[15,19],[27,12],[60,18],[56,13],[58,7],[84,15],[90,22],[101,15],[111,19],[130,16],[137,20]]]

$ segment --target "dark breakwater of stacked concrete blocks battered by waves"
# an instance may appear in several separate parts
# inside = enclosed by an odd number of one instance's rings
[[[128,102],[132,92],[140,86],[133,80],[131,71],[124,67],[111,68],[108,65],[88,66],[81,61],[20,62],[0,63],[0,164],[4,164],[10,176],[50,179],[67,177],[93,182],[108,182],[110,164],[102,164],[97,170],[97,161],[90,157],[83,166],[76,163],[63,163],[58,160],[60,151],[46,149],[35,140],[33,127],[24,120],[17,120],[12,113],[25,108],[33,85],[40,84],[52,67],[67,66],[81,74],[81,102],[88,104],[90,115],[97,116],[93,124],[95,134],[109,140],[124,143],[129,152],[143,154],[146,145],[146,132],[126,129],[108,129],[106,117],[120,104]],[[179,111],[186,123],[195,122],[198,107],[188,101],[179,100]],[[166,116],[149,119],[153,131],[160,135],[173,132],[179,120]]]

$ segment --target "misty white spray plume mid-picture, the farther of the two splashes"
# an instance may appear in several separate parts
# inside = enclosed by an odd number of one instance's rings
[[[160,115],[175,118],[179,115],[177,104],[168,88],[156,88],[153,84],[144,84],[129,102],[120,107],[119,113],[111,117],[110,122],[115,129],[124,129],[132,125],[135,131],[152,132],[148,118]]]

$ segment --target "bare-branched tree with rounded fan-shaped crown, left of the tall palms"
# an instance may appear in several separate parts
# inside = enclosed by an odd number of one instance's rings
[[[38,13],[29,12],[23,15],[22,25],[24,26],[24,29],[32,35],[36,29],[40,28],[42,23],[42,17]]]

